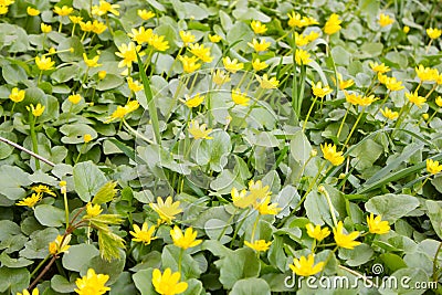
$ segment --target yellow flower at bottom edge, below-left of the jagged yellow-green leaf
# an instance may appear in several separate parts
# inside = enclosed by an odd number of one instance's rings
[[[107,274],[96,274],[93,268],[88,268],[85,276],[75,281],[77,288],[74,291],[80,295],[103,295],[110,289],[105,286],[108,280]]]

